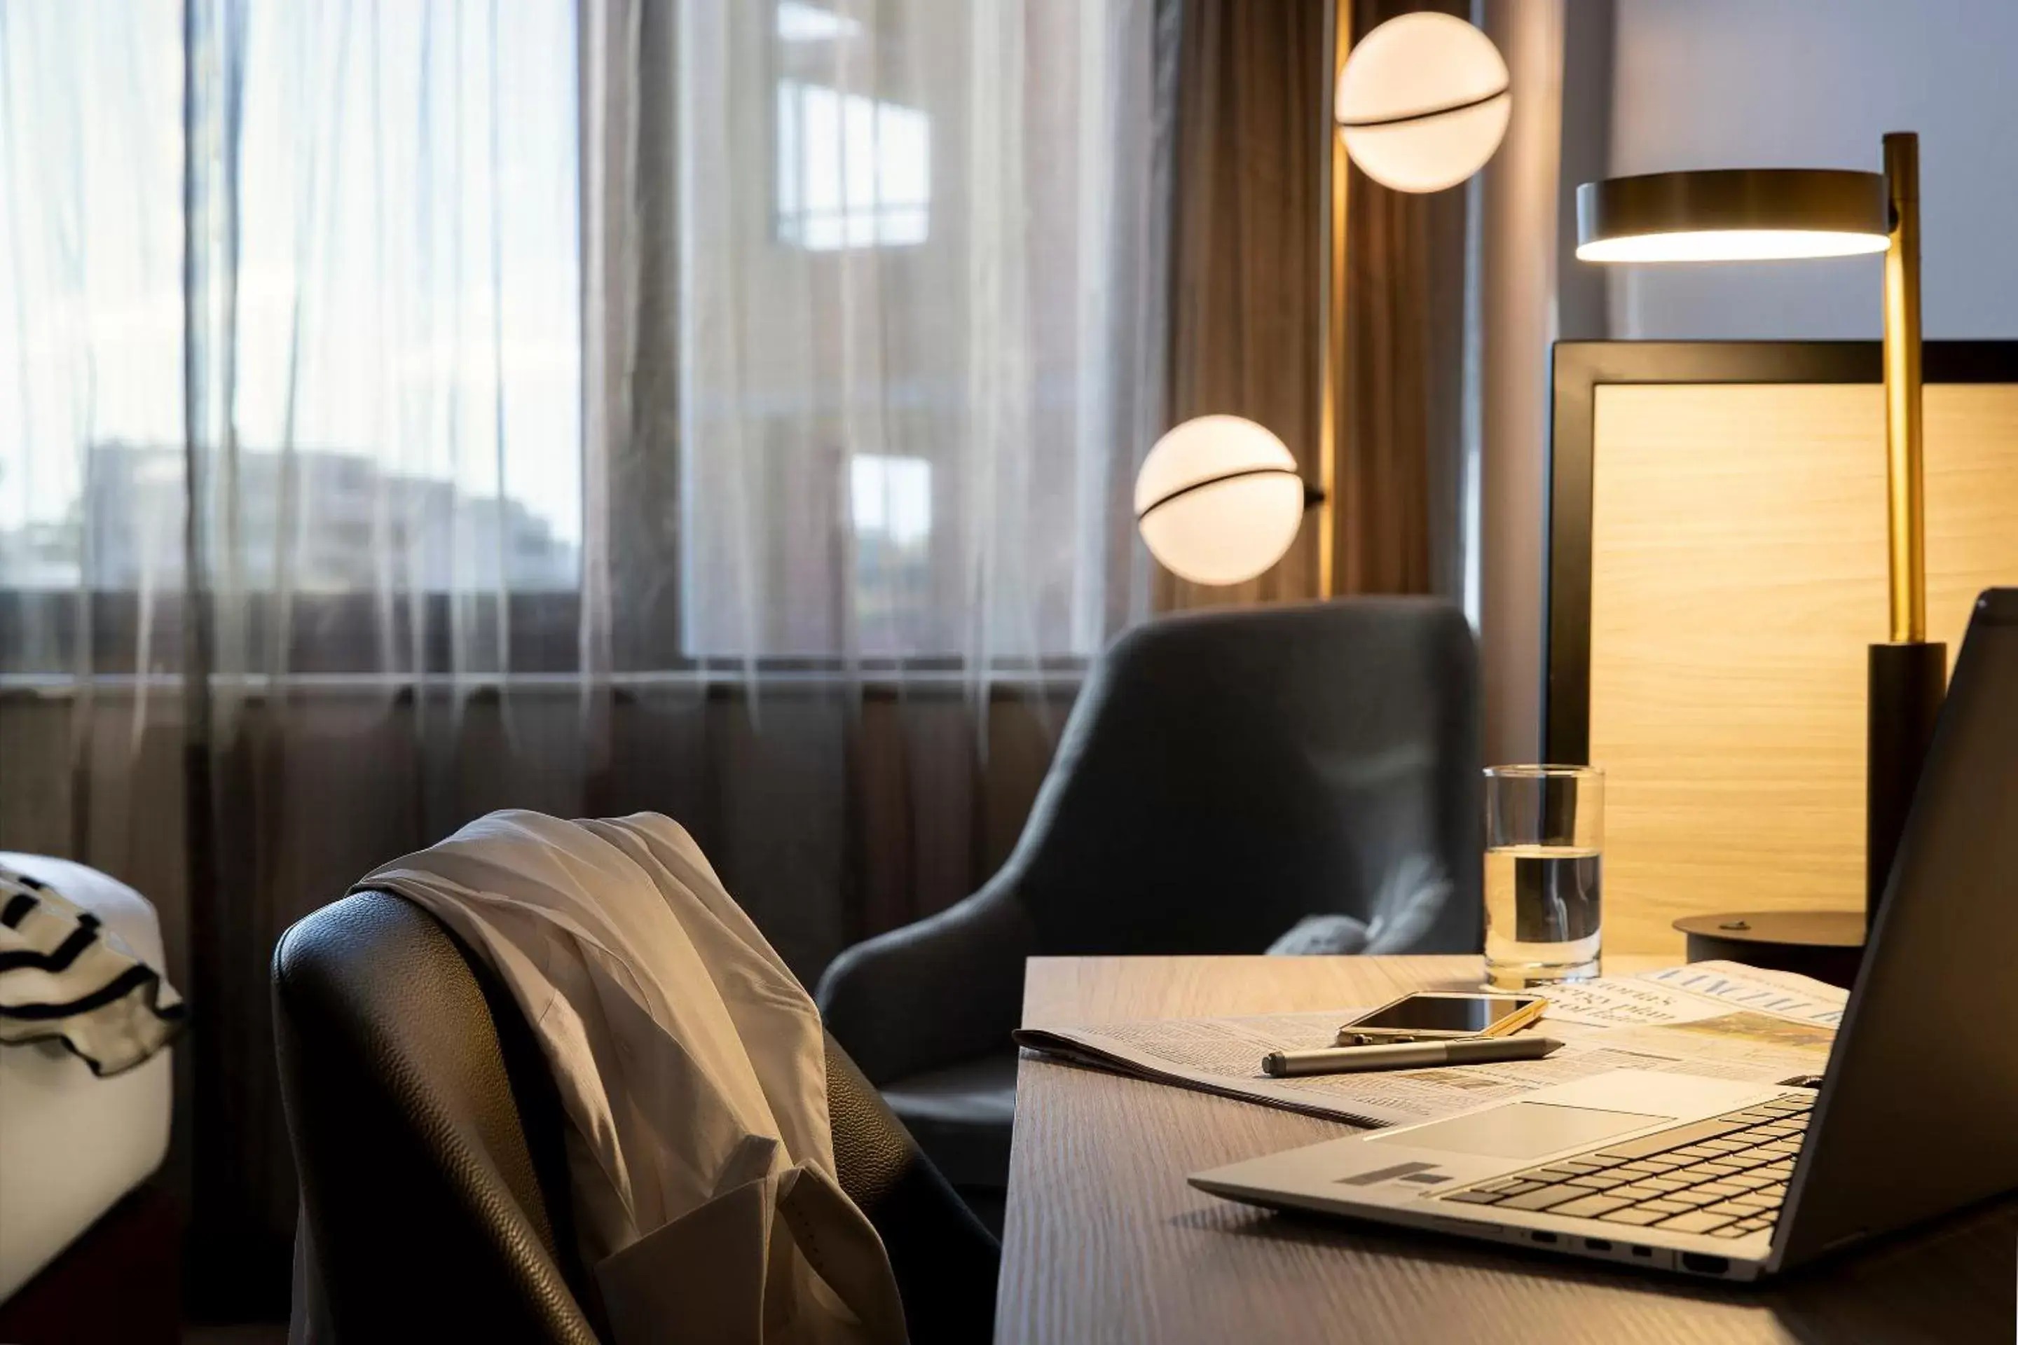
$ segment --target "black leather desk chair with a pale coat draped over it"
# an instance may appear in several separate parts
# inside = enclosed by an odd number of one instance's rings
[[[488,966],[412,901],[363,891],[283,936],[272,1000],[311,1339],[607,1339],[569,1226],[553,1075]],[[989,1339],[999,1246],[831,1038],[827,1117],[910,1337]],[[688,1337],[668,1323],[664,1339]]]

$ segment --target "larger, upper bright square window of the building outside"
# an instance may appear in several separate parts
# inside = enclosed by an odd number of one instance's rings
[[[809,252],[920,244],[930,216],[926,113],[797,79],[777,83],[781,242]]]

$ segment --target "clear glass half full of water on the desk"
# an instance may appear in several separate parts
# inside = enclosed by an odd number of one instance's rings
[[[1598,974],[1604,772],[1485,770],[1485,980],[1526,990]]]

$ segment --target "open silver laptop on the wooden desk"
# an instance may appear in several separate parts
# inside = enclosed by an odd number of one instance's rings
[[[1984,593],[1818,1089],[1614,1071],[1191,1178],[1756,1280],[2018,1186],[2018,589]]]

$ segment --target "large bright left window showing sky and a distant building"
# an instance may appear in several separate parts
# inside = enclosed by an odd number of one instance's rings
[[[236,304],[220,569],[264,589],[285,567],[301,593],[573,591],[571,0],[234,14],[238,236],[206,272],[234,272]],[[182,6],[8,18],[0,591],[167,597],[188,494]],[[224,355],[206,349],[212,395]]]

